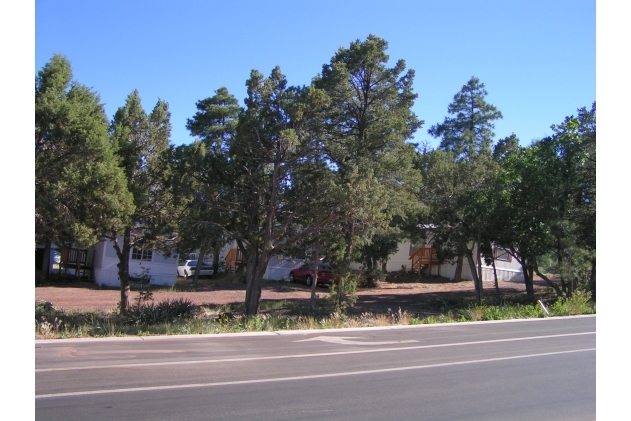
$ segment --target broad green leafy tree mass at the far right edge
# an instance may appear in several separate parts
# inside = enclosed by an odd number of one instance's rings
[[[585,283],[592,274],[595,283],[595,105],[552,128],[552,136],[500,161],[506,190],[496,217],[506,229],[498,240],[521,263],[530,296],[535,273],[558,295],[571,294],[581,272]],[[550,253],[561,269],[560,286],[539,267]]]

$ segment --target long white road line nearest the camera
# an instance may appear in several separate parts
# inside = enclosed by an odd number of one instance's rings
[[[448,366],[455,366],[455,365],[478,364],[478,363],[495,362],[495,361],[507,361],[507,360],[521,359],[521,358],[545,357],[545,356],[550,356],[550,355],[572,354],[576,352],[589,352],[589,351],[596,351],[596,348],[576,349],[576,350],[571,350],[571,351],[559,351],[559,352],[546,352],[546,353],[541,353],[541,354],[515,355],[512,357],[489,358],[489,359],[484,359],[484,360],[457,361],[457,362],[451,362],[451,363],[384,368],[384,369],[378,369],[378,370],[349,371],[345,373],[331,373],[331,374],[314,374],[311,376],[277,377],[273,379],[238,380],[238,381],[217,382],[217,383],[194,383],[194,384],[180,384],[180,385],[171,385],[171,386],[132,387],[132,388],[127,388],[127,389],[109,389],[109,390],[105,389],[105,390],[89,390],[89,391],[81,391],[81,392],[50,393],[50,394],[44,394],[44,395],[35,395],[35,399],[61,398],[61,397],[69,397],[69,396],[103,395],[103,394],[108,394],[108,393],[147,392],[147,391],[154,391],[154,390],[191,389],[191,388],[200,388],[200,387],[233,386],[233,385],[239,385],[239,384],[273,383],[273,382],[285,382],[285,381],[292,381],[292,380],[322,379],[322,378],[327,378],[327,377],[357,376],[357,375],[362,375],[362,374],[388,373],[388,372],[406,371],[406,370],[421,370],[425,368],[448,367]]]

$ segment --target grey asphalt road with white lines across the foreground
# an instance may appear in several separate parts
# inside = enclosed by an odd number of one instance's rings
[[[37,420],[596,419],[596,317],[35,344]]]

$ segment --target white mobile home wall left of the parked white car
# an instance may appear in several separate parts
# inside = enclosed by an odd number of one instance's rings
[[[122,241],[122,238],[120,239]],[[94,279],[97,285],[119,287],[118,256],[109,240],[100,241],[95,246]],[[150,262],[129,259],[129,274],[140,276],[144,268],[149,269],[151,285],[172,286],[177,277],[177,256],[165,257],[154,251]]]

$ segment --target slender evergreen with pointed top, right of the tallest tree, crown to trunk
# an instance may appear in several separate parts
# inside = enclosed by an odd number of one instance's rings
[[[502,118],[501,112],[486,103],[486,95],[484,84],[472,77],[449,104],[451,116],[429,129],[430,135],[441,138],[440,149],[447,155],[432,154],[426,180],[433,181],[426,185],[428,191],[421,199],[431,204],[431,223],[439,226],[440,235],[434,235],[435,246],[446,248],[443,254],[464,256],[469,262],[478,302],[482,300],[482,252],[492,252],[493,186],[497,173],[491,159],[493,121]],[[514,139],[505,142],[512,147]],[[447,179],[441,175],[445,169],[451,174]],[[443,200],[441,195],[445,193],[441,191],[446,190],[453,190],[455,196]],[[486,257],[492,259],[492,255]]]

